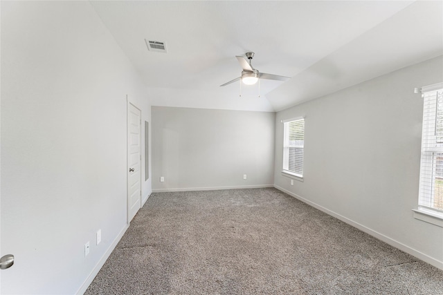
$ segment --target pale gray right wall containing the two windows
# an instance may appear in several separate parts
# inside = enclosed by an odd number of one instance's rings
[[[277,113],[275,186],[443,267],[443,229],[417,209],[423,100],[443,81],[443,58],[397,70]],[[280,172],[280,120],[305,115],[304,182]]]

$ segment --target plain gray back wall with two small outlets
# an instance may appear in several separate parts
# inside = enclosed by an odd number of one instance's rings
[[[274,129],[275,113],[152,106],[153,191],[272,186]]]

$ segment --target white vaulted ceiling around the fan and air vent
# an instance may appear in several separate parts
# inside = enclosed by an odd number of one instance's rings
[[[443,54],[443,1],[90,2],[155,106],[280,111]],[[247,51],[291,79],[220,87]]]

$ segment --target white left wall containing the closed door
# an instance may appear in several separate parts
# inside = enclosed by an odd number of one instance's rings
[[[146,90],[88,1],[1,1],[1,86],[1,252],[15,255],[1,294],[82,292],[127,227],[126,95],[150,121]]]

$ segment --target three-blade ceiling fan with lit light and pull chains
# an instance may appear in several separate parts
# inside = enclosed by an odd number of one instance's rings
[[[254,57],[254,53],[248,52],[245,55],[249,59],[249,62],[246,60],[245,57],[236,56],[238,59],[238,62],[240,63],[240,66],[243,68],[242,76],[235,78],[233,80],[230,80],[229,82],[226,82],[225,84],[222,84],[220,86],[226,86],[226,85],[234,83],[240,79],[246,85],[253,85],[253,84],[257,83],[258,79],[269,79],[269,80],[278,80],[278,81],[286,81],[287,79],[291,79],[291,77],[284,77],[284,76],[279,76],[279,75],[260,73],[256,68],[253,68],[253,66],[251,64],[251,61]]]

